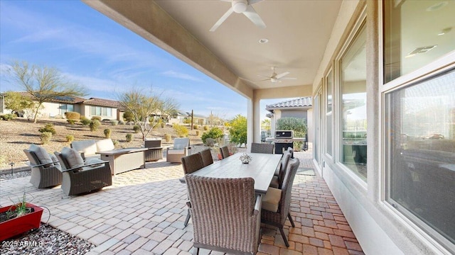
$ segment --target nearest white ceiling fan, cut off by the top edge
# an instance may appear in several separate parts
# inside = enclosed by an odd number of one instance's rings
[[[259,28],[266,28],[264,21],[262,21],[262,18],[259,17],[259,14],[255,11],[255,8],[253,8],[252,4],[259,3],[260,1],[263,0],[220,0],[220,1],[230,1],[231,2],[231,7],[229,8],[226,13],[221,16],[221,18],[213,25],[212,28],[210,28],[210,32],[215,31],[221,23],[223,23],[231,14],[232,12],[235,13],[243,13],[247,18],[252,21],[252,23],[255,23],[256,26]]]

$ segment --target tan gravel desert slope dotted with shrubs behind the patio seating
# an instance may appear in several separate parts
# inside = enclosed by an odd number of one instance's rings
[[[55,128],[55,135],[51,138],[48,144],[43,145],[40,139],[38,129],[43,128],[46,124],[51,123]],[[0,120],[0,169],[11,169],[10,163],[14,163],[14,168],[26,166],[28,161],[23,149],[28,149],[31,144],[40,145],[48,152],[60,152],[63,147],[69,147],[70,142],[67,142],[66,136],[73,135],[74,140],[100,140],[105,138],[104,130],[111,129],[111,139],[117,140],[117,148],[126,147],[141,147],[144,146],[141,132],[135,133],[133,125],[112,125],[111,123],[102,122],[100,127],[92,132],[88,126],[81,123],[73,125],[67,123],[64,119],[41,119],[37,123],[28,121],[26,118],[15,118],[14,120]],[[198,127],[199,135],[196,135],[196,130],[191,130],[188,125],[188,137],[191,140],[191,145],[203,145],[200,135],[203,134],[201,127]],[[126,135],[132,134],[132,142],[127,142]],[[172,137],[170,142],[164,139],[165,134]],[[169,147],[173,145],[173,138],[178,137],[176,132],[170,125],[165,125],[164,128],[157,127],[152,130],[147,138],[161,137],[162,146]]]

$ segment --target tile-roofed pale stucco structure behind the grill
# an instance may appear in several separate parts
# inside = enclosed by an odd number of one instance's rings
[[[265,106],[265,109],[269,111],[266,116],[270,118],[270,134],[272,136],[277,130],[276,123],[280,118],[303,118],[306,121],[307,142],[311,147],[313,143],[313,98],[311,96],[272,103]]]

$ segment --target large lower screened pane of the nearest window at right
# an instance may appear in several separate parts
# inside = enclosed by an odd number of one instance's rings
[[[386,96],[387,198],[455,243],[455,69]]]

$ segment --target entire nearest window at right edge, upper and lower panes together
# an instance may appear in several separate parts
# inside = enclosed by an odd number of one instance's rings
[[[455,1],[383,4],[385,200],[455,252]]]

